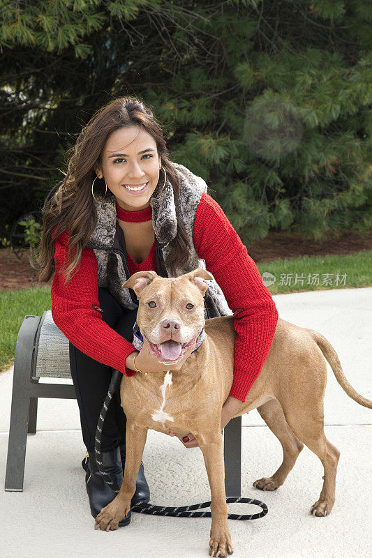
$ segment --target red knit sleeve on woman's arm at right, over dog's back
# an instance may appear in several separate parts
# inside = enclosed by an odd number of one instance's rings
[[[237,232],[207,193],[196,211],[193,242],[234,312],[237,338],[230,397],[244,402],[269,354],[278,310]]]

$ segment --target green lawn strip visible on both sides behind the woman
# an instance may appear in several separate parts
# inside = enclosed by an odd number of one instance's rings
[[[276,276],[273,285],[268,285],[271,294],[287,294],[325,289],[351,289],[372,285],[372,251],[359,252],[350,256],[300,257],[277,259],[269,264],[258,264],[261,276],[265,272]],[[280,285],[281,276],[287,279],[292,273],[291,285]],[[295,276],[304,276],[304,284]],[[336,285],[335,276],[346,276],[342,284]],[[319,285],[311,285],[308,276],[318,274]],[[332,274],[332,283],[322,284],[322,277]],[[50,287],[34,287],[19,291],[0,292],[0,372],[8,370],[14,361],[17,333],[25,315],[43,315],[50,310]]]

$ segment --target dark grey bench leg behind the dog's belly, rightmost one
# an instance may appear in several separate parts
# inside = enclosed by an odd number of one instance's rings
[[[241,496],[241,416],[232,418],[223,433],[226,497]]]

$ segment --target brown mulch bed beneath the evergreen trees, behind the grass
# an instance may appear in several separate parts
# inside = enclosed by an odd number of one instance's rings
[[[350,232],[338,239],[327,239],[322,242],[303,239],[298,234],[287,236],[285,232],[271,232],[266,239],[248,246],[248,254],[256,264],[272,262],[278,258],[348,255],[362,250],[372,250],[372,231],[364,237]],[[24,252],[22,258],[17,259],[10,248],[0,250],[0,291],[27,289],[40,285],[52,285],[52,278],[48,282],[36,280],[36,272],[29,264],[28,252]]]

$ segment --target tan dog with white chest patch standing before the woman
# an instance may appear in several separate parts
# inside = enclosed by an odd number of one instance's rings
[[[139,271],[122,285],[133,288],[139,299],[137,324],[159,361],[181,358],[179,354],[195,342],[203,326],[205,335],[180,370],[123,377],[121,405],[127,420],[124,480],[117,497],[97,515],[96,528],[117,529],[129,511],[147,430],[167,435],[172,431],[180,439],[191,432],[202,450],[211,488],[209,554],[226,556],[232,553],[232,542],[225,502],[221,409],[232,385],[237,334],[233,316],[204,322],[205,279],[211,275],[204,269],[177,278]],[[313,515],[328,515],[332,510],[340,455],[323,430],[327,382],[323,355],[345,392],[372,408],[372,402],[348,383],[336,352],[320,333],[279,318],[267,360],[235,415],[257,408],[283,447],[278,470],[253,486],[262,490],[281,486],[304,444],[318,455],[325,476],[318,502],[311,508]]]

